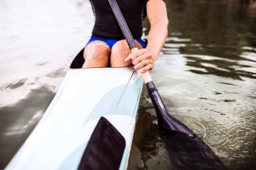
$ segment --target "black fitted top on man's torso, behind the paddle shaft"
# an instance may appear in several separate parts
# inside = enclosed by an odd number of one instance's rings
[[[117,0],[133,38],[141,38],[148,0]],[[95,16],[92,35],[108,39],[124,39],[108,0],[90,0]]]

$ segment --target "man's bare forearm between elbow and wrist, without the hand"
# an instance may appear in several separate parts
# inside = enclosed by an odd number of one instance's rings
[[[147,49],[152,52],[154,59],[158,57],[164,42],[168,36],[168,20],[159,21],[151,24],[150,32],[148,34],[148,45]]]

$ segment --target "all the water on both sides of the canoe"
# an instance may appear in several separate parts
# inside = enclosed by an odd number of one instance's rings
[[[152,77],[170,113],[228,169],[256,169],[256,8],[241,2],[166,0],[169,36]],[[40,120],[93,21],[88,1],[0,1],[0,169]],[[143,89],[128,169],[170,169],[165,148]]]

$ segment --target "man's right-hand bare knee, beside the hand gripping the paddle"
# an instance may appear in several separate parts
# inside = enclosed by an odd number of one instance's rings
[[[142,48],[139,42],[135,41],[135,44],[140,49]],[[120,40],[116,42],[112,47],[112,52],[110,56],[111,67],[129,67],[132,66],[130,62],[125,62],[125,58],[131,53],[131,50],[126,42],[126,40]]]

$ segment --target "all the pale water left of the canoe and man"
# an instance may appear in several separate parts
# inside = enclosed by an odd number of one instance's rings
[[[1,1],[0,169],[48,108],[93,20],[89,1]]]

